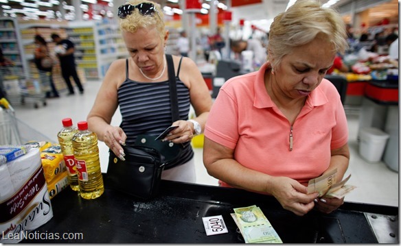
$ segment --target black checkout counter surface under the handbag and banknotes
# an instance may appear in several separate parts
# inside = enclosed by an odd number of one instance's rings
[[[331,214],[299,217],[274,197],[234,188],[163,180],[158,197],[140,201],[105,184],[94,200],[63,190],[51,199],[54,217],[35,230],[75,239],[21,243],[244,243],[230,213],[251,205],[261,208],[283,243],[399,243],[396,207],[345,202]],[[206,235],[202,217],[214,215],[222,215],[228,233]]]

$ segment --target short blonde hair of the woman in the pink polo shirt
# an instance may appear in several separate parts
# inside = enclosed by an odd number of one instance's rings
[[[306,45],[317,37],[331,42],[336,52],[344,53],[347,48],[345,23],[338,12],[321,8],[314,0],[298,0],[286,12],[277,15],[271,24],[268,60],[275,67],[295,47]]]

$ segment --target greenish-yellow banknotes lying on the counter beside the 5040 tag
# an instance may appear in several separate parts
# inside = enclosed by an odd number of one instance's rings
[[[236,221],[245,243],[283,243],[259,207],[234,208],[231,217]]]

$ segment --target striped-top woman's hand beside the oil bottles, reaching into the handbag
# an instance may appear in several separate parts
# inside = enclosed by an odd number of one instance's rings
[[[127,136],[121,127],[109,125],[106,127],[103,135],[103,141],[121,160],[125,160],[124,149],[121,145],[125,145]]]

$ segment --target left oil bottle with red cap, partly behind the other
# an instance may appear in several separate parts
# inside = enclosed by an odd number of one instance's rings
[[[62,119],[62,129],[57,134],[62,155],[64,156],[65,167],[67,167],[69,186],[73,190],[80,190],[78,186],[78,175],[73,157],[72,138],[78,132],[77,127],[72,125],[71,118]]]

